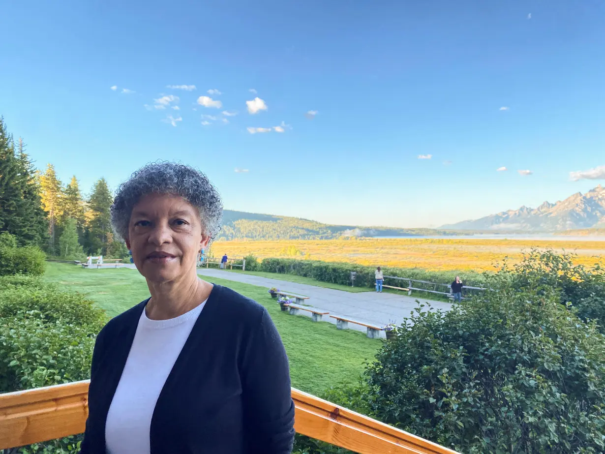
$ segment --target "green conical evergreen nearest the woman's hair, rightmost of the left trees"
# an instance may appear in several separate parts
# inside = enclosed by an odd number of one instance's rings
[[[106,255],[107,234],[111,233],[110,206],[113,202],[110,188],[104,178],[101,178],[93,186],[93,192],[88,200],[87,218],[88,228],[86,232],[85,246],[90,254],[96,254],[101,250]]]

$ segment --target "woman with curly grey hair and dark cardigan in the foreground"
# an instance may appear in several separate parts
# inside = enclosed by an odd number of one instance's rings
[[[97,337],[83,454],[291,452],[280,335],[263,306],[197,276],[222,211],[185,165],[153,163],[120,185],[111,221],[151,298]]]

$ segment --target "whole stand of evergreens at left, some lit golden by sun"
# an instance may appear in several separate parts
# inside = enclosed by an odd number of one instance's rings
[[[37,170],[23,139],[15,141],[0,117],[0,232],[51,256],[123,258],[126,245],[111,230],[112,201],[104,178],[84,197],[76,176],[64,185],[52,164]]]

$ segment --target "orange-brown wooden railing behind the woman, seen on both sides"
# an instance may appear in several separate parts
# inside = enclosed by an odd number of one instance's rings
[[[0,394],[0,449],[84,432],[90,381]],[[457,454],[292,389],[296,432],[361,454]]]

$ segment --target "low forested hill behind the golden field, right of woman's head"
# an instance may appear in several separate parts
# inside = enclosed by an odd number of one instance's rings
[[[332,240],[340,237],[417,237],[456,235],[436,229],[402,229],[329,225],[298,217],[223,211],[223,226],[218,240]]]

